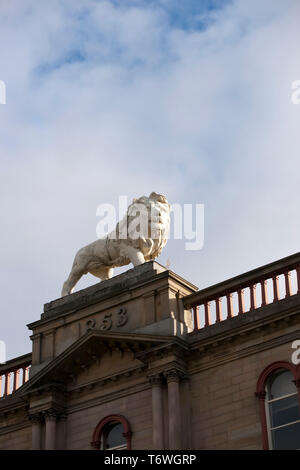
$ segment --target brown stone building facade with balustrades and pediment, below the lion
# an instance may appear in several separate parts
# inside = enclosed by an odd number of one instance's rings
[[[299,448],[299,312],[300,253],[203,290],[150,261],[45,304],[0,365],[0,449]]]

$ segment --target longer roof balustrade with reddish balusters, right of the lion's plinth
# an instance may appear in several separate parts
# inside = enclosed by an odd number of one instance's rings
[[[194,331],[300,294],[300,253],[253,269],[183,299]]]

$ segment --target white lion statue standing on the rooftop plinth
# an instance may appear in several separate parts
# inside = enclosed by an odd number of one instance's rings
[[[152,192],[133,199],[115,230],[76,253],[61,295],[70,294],[84,274],[110,279],[114,267],[130,262],[138,266],[157,258],[167,243],[169,228],[170,205],[165,196]]]

